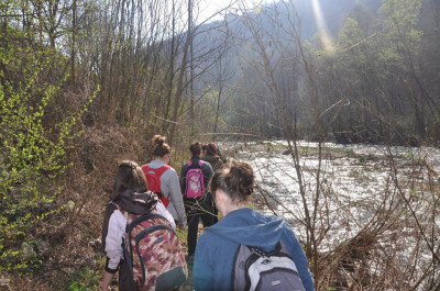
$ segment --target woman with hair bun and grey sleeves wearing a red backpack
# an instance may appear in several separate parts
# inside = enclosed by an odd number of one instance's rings
[[[142,166],[142,170],[145,174],[148,190],[157,193],[161,201],[177,222],[177,226],[185,228],[187,219],[182,199],[179,179],[176,170],[168,165],[172,148],[165,141],[166,138],[161,135],[153,137],[153,160]]]

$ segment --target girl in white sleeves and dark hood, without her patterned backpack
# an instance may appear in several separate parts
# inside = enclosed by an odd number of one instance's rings
[[[136,163],[124,160],[119,165],[113,187],[114,191],[107,204],[102,225],[102,249],[107,260],[101,290],[110,290],[111,280],[119,271],[119,290],[135,291],[140,289],[123,255],[128,215],[158,213],[166,219],[165,224],[169,223],[168,226],[173,228],[176,225],[157,197],[146,190],[145,176]]]

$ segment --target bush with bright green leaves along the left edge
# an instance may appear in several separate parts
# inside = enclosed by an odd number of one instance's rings
[[[21,42],[0,47],[1,269],[38,266],[33,245],[23,245],[37,222],[62,210],[55,203],[61,191],[55,179],[70,166],[66,161],[68,141],[80,134],[73,130],[87,104],[80,112],[46,125],[47,105],[67,78],[47,78],[57,59],[48,48],[31,49]]]

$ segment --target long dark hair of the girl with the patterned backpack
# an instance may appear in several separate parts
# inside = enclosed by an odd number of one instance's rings
[[[135,161],[123,160],[118,167],[113,189],[114,197],[122,194],[125,190],[138,193],[145,192],[146,179],[141,167]]]

